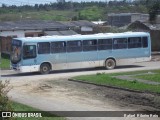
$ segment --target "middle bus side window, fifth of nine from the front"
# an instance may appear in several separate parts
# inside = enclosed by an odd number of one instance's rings
[[[83,51],[97,51],[97,40],[83,40]]]

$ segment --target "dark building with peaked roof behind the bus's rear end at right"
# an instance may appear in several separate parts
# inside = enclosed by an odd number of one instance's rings
[[[149,32],[151,35],[152,51],[160,51],[160,23],[150,24],[148,22],[135,21],[128,26],[128,29]]]

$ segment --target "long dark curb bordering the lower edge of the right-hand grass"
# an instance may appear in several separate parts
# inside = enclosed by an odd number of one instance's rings
[[[99,86],[99,87],[113,88],[113,89],[117,89],[117,90],[125,90],[125,91],[129,91],[129,92],[149,93],[149,94],[153,94],[153,95],[160,95],[160,93],[154,93],[154,92],[149,92],[149,91],[139,91],[139,90],[133,90],[133,89],[129,89],[129,88],[122,88],[122,87],[116,87],[116,86],[110,86],[110,85],[101,85],[101,84],[96,84],[96,83],[92,83],[92,82],[75,80],[75,79],[71,79],[71,78],[69,78],[68,81],[85,83],[85,84],[95,85],[95,86]]]

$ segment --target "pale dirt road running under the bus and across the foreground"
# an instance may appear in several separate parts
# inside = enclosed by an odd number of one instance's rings
[[[160,62],[143,62],[132,66],[117,67],[114,70],[85,69],[54,71],[49,75],[39,73],[16,74],[11,70],[1,71],[2,80],[10,80],[13,89],[9,96],[12,100],[45,111],[134,111],[159,110],[159,96],[151,94],[119,91],[112,88],[97,87],[68,81],[72,76],[128,72],[136,70],[160,69]],[[147,97],[146,97],[147,96]],[[148,99],[150,98],[150,99]],[[69,118],[143,120],[144,118]],[[145,118],[145,120],[153,118]],[[158,118],[154,118],[158,120]]]

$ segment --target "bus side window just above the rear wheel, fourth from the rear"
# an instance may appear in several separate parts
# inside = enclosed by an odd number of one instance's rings
[[[112,49],[112,39],[98,40],[98,50],[110,50],[110,49]]]

